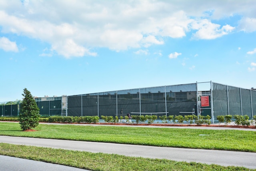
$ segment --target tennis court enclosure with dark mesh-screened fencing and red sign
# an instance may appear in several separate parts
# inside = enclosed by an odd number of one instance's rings
[[[256,115],[256,90],[214,82],[166,85],[35,97],[41,115],[118,116],[127,115]],[[19,115],[22,101],[0,103],[0,115]]]

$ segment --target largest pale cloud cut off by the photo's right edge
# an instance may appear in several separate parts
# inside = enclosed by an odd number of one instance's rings
[[[244,32],[255,32],[256,31],[256,18],[242,18],[242,20],[239,21],[239,30]]]

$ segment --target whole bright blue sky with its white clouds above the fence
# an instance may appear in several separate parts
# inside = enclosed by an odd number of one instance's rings
[[[256,87],[255,0],[1,0],[0,102],[213,81]]]

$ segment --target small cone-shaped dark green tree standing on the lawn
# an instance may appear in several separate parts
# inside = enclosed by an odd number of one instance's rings
[[[23,131],[27,129],[34,128],[38,125],[40,114],[39,108],[36,104],[36,101],[33,99],[30,91],[24,88],[24,94],[22,94],[25,98],[21,103],[21,112],[20,112],[20,127]]]

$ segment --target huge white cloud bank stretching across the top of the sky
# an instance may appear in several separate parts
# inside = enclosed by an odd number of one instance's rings
[[[195,39],[219,38],[231,33],[234,27],[211,21],[234,14],[245,16],[240,21],[241,30],[253,31],[254,4],[254,0],[246,3],[1,0],[0,26],[2,33],[41,40],[50,44],[57,54],[72,58],[95,56],[91,52],[94,48],[120,51],[162,45],[165,37],[182,38],[191,31],[196,31]]]

